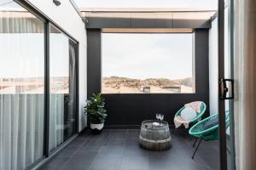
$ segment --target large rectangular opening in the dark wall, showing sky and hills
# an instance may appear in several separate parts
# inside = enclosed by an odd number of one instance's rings
[[[193,33],[102,33],[102,94],[195,93]]]

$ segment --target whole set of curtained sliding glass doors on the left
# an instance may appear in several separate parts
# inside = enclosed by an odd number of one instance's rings
[[[1,170],[29,169],[77,133],[76,48],[15,1],[0,4]]]

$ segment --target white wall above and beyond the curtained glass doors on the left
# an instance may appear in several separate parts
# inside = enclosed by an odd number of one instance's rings
[[[73,8],[69,0],[61,0],[60,6],[55,6],[52,0],[27,0],[41,12],[54,20],[58,26],[67,31],[79,41],[79,131],[86,126],[83,107],[86,99],[86,31],[84,22]]]

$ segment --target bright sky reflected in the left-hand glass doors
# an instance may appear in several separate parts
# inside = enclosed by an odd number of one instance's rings
[[[51,33],[50,43],[50,77],[67,77],[68,38]],[[44,33],[0,34],[0,47],[0,78],[44,77]]]

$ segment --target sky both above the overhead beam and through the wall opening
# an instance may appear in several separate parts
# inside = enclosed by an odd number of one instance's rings
[[[201,8],[218,0],[75,0],[79,8]],[[189,34],[102,34],[102,77],[192,77]]]

